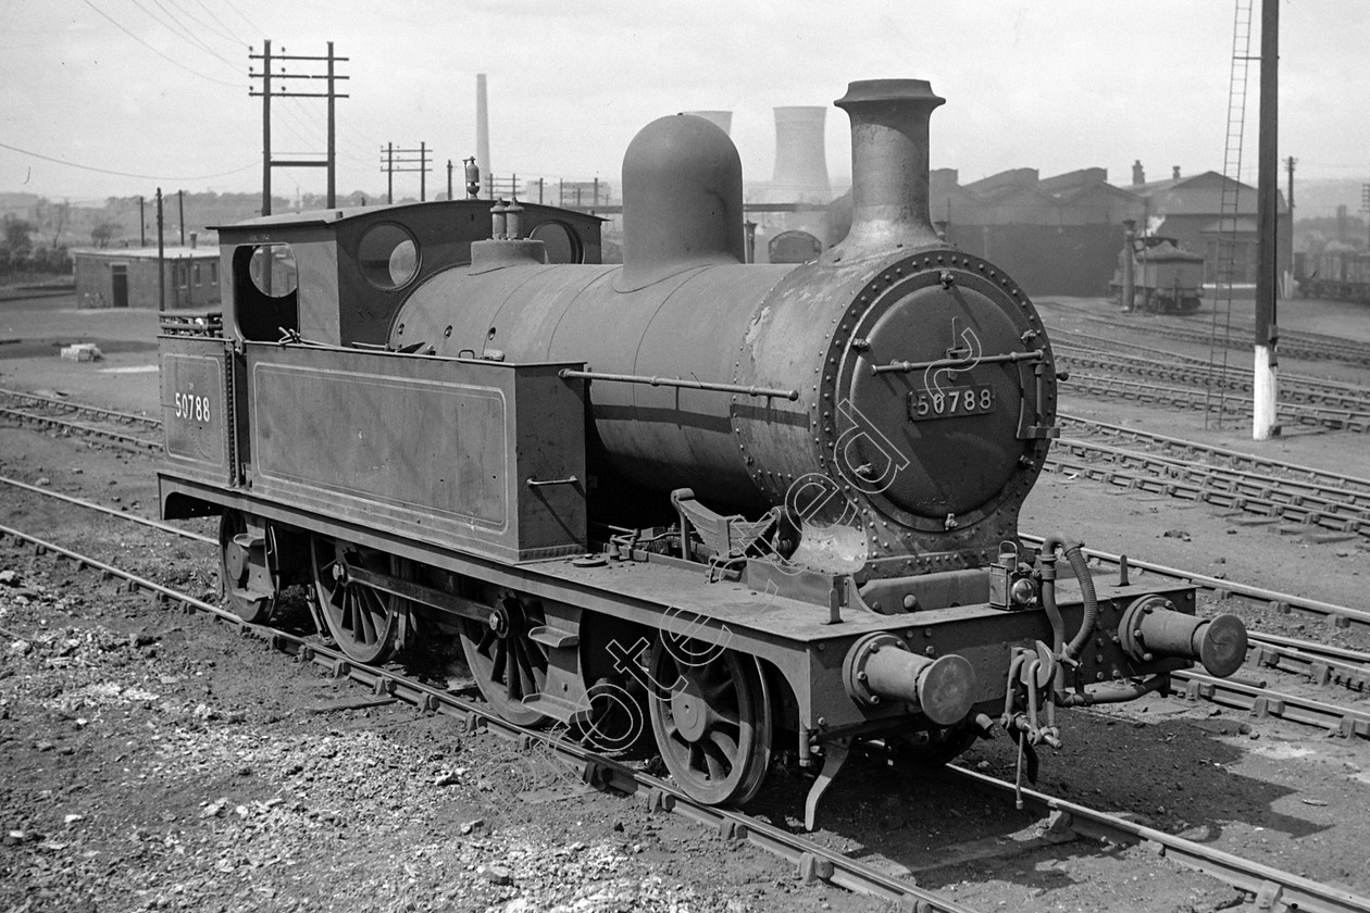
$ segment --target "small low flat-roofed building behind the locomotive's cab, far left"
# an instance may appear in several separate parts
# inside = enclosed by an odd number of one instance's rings
[[[156,308],[156,248],[99,248],[71,252],[79,308]],[[166,309],[219,304],[219,249],[164,248],[160,270]]]

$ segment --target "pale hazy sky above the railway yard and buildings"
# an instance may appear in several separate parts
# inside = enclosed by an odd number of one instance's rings
[[[1370,174],[1370,3],[1281,0],[1280,19],[1280,156],[1297,159],[1300,179]],[[260,192],[248,55],[264,38],[292,55],[333,41],[348,57],[340,193],[384,190],[386,142],[425,142],[444,168],[474,155],[478,73],[499,175],[616,185],[644,125],[726,110],[744,178],[766,181],[774,107],[830,107],[854,79],[919,78],[947,99],[933,114],[932,166],[958,168],[962,183],[1104,167],[1128,185],[1137,159],[1148,179],[1174,166],[1222,170],[1233,0],[0,0],[0,192]],[[1258,83],[1254,62],[1251,182]],[[273,105],[274,155],[322,155],[325,103]],[[832,107],[826,155],[840,185],[848,120]],[[278,196],[325,188],[322,168],[273,179]],[[416,194],[416,174],[395,181],[396,197]],[[434,188],[444,171],[429,175]]]

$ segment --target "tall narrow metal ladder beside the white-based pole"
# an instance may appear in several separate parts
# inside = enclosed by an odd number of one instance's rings
[[[1251,1],[1234,0],[1232,16],[1232,70],[1228,77],[1228,138],[1222,156],[1222,201],[1218,211],[1218,271],[1214,285],[1212,326],[1208,333],[1208,363],[1218,349],[1218,312],[1223,313],[1222,371],[1228,371],[1228,345],[1232,335],[1232,285],[1237,277],[1237,214],[1241,203],[1241,141],[1247,122],[1247,75],[1251,62]],[[1212,387],[1204,389],[1204,427],[1208,427],[1208,404]],[[1222,427],[1222,397],[1218,390],[1218,427]]]

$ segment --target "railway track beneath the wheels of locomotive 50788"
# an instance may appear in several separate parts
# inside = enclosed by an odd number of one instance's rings
[[[634,769],[615,758],[604,757],[581,745],[558,738],[555,734],[526,730],[510,724],[459,694],[434,689],[415,680],[399,669],[356,663],[340,650],[321,645],[307,636],[242,621],[226,609],[178,593],[147,578],[122,571],[114,565],[64,549],[41,538],[0,526],[0,539],[15,539],[34,549],[37,554],[52,554],[56,560],[74,563],[79,569],[101,574],[104,579],[119,579],[129,591],[141,591],[159,605],[184,613],[201,613],[216,621],[233,624],[242,636],[264,641],[273,649],[301,661],[322,667],[332,676],[351,679],[370,689],[378,697],[388,697],[414,705],[422,712],[437,713],[456,720],[466,732],[488,731],[510,739],[521,750],[537,747],[574,768],[584,783],[612,790],[630,797],[641,797],[653,812],[673,812],[695,821],[727,840],[745,842],[790,864],[795,875],[806,882],[826,882],[888,902],[900,909],[921,913],[973,913],[966,905],[922,888],[912,882],[891,876],[871,865],[822,846],[803,835],[775,827],[767,821],[729,809],[699,805],[675,790],[669,782]],[[952,777],[986,791],[1004,801],[1015,794],[1014,784],[964,768],[951,768]],[[1125,817],[1100,812],[1085,805],[1060,799],[1036,790],[1021,790],[1023,799],[1049,814],[1069,816],[1069,827],[1078,835],[1118,845],[1149,846],[1160,856],[1191,869],[1212,875],[1255,897],[1263,909],[1310,910],[1318,913],[1351,913],[1370,909],[1370,898],[1349,890],[1321,884],[1303,876],[1217,850],[1211,846],[1143,827]],[[1059,819],[1058,819],[1059,824]]]

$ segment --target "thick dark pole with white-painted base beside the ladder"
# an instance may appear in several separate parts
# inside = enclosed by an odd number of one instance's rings
[[[1256,339],[1252,376],[1254,441],[1280,434],[1280,333],[1275,287],[1280,275],[1277,244],[1280,188],[1280,0],[1260,0],[1260,157],[1256,166]]]

